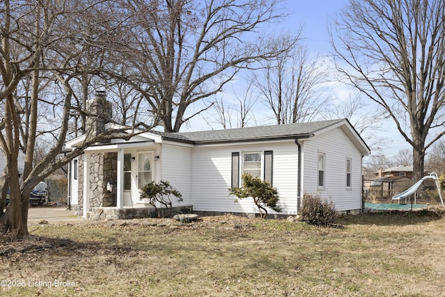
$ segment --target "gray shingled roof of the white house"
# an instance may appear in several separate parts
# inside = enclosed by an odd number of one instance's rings
[[[259,126],[259,127],[245,127],[237,129],[222,129],[209,131],[195,131],[195,132],[177,132],[177,133],[162,133],[155,132],[161,135],[164,139],[172,141],[183,141],[189,143],[227,143],[237,141],[259,141],[270,139],[285,139],[296,138],[302,136],[310,136],[316,131],[325,129],[332,125],[342,122],[339,120],[324,120],[319,122],[305,122],[287,125],[273,125],[273,126]]]

